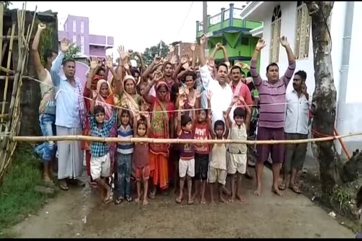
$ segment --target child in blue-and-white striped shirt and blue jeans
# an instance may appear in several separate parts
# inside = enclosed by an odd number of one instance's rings
[[[126,106],[127,107],[127,106]],[[133,130],[130,126],[131,115],[127,109],[122,109],[119,116],[121,125],[118,128],[118,138],[128,139],[133,137]],[[115,185],[115,204],[120,204],[124,198],[132,201],[131,196],[131,170],[132,170],[132,143],[117,144],[117,181]]]

